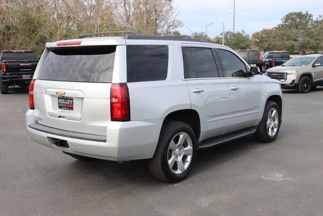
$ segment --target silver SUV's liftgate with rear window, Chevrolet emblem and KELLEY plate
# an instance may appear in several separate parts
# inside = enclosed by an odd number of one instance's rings
[[[106,136],[119,46],[47,49],[34,85],[35,121]]]

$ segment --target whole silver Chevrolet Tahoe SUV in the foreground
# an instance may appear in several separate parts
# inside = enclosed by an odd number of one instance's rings
[[[198,149],[276,139],[278,80],[225,46],[131,33],[46,44],[26,113],[35,142],[77,159],[148,159],[155,178],[178,182]]]

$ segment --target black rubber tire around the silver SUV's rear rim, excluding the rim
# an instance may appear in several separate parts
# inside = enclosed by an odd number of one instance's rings
[[[185,171],[183,171],[181,174],[175,174],[168,163],[170,151],[169,146],[173,138],[176,137],[178,133],[182,132],[186,133],[192,141],[192,156],[191,161]],[[180,182],[189,175],[189,172],[195,160],[195,156],[196,138],[192,128],[188,124],[181,121],[169,121],[165,123],[163,128],[161,128],[155,154],[153,158],[148,160],[148,167],[152,176],[158,180],[168,183]]]

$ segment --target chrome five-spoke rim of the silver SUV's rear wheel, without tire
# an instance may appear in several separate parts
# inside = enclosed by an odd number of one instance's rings
[[[168,147],[168,165],[172,172],[181,174],[190,165],[193,156],[193,144],[185,132],[175,135]]]

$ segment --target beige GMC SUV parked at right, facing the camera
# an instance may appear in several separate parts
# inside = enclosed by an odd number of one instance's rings
[[[323,54],[294,57],[283,65],[270,68],[267,76],[278,79],[282,88],[297,89],[308,93],[317,86],[323,86]]]

